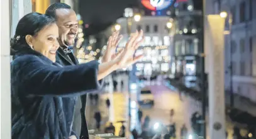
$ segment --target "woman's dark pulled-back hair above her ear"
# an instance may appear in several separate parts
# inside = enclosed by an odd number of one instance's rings
[[[36,36],[45,26],[55,23],[55,19],[40,13],[29,13],[18,22],[15,35],[11,38],[11,54],[29,47],[26,43],[26,35]]]

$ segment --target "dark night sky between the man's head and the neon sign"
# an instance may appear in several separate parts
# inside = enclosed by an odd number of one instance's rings
[[[84,23],[89,24],[86,34],[104,30],[123,15],[125,8],[139,3],[139,0],[80,0],[79,13]]]

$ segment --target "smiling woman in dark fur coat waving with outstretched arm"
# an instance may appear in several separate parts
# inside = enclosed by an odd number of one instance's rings
[[[136,31],[111,62],[62,67],[55,63],[59,45],[54,19],[40,13],[26,14],[11,41],[12,138],[73,138],[76,96],[98,91],[99,80],[141,58],[133,53],[142,36],[142,31]]]

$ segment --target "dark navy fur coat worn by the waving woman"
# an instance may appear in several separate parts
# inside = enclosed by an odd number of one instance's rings
[[[61,67],[34,50],[11,62],[13,139],[67,139],[77,96],[99,91],[97,61]]]

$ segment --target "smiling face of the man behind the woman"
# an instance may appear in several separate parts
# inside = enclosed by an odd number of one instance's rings
[[[78,21],[73,9],[57,9],[57,26],[60,46],[73,46],[78,31]]]

